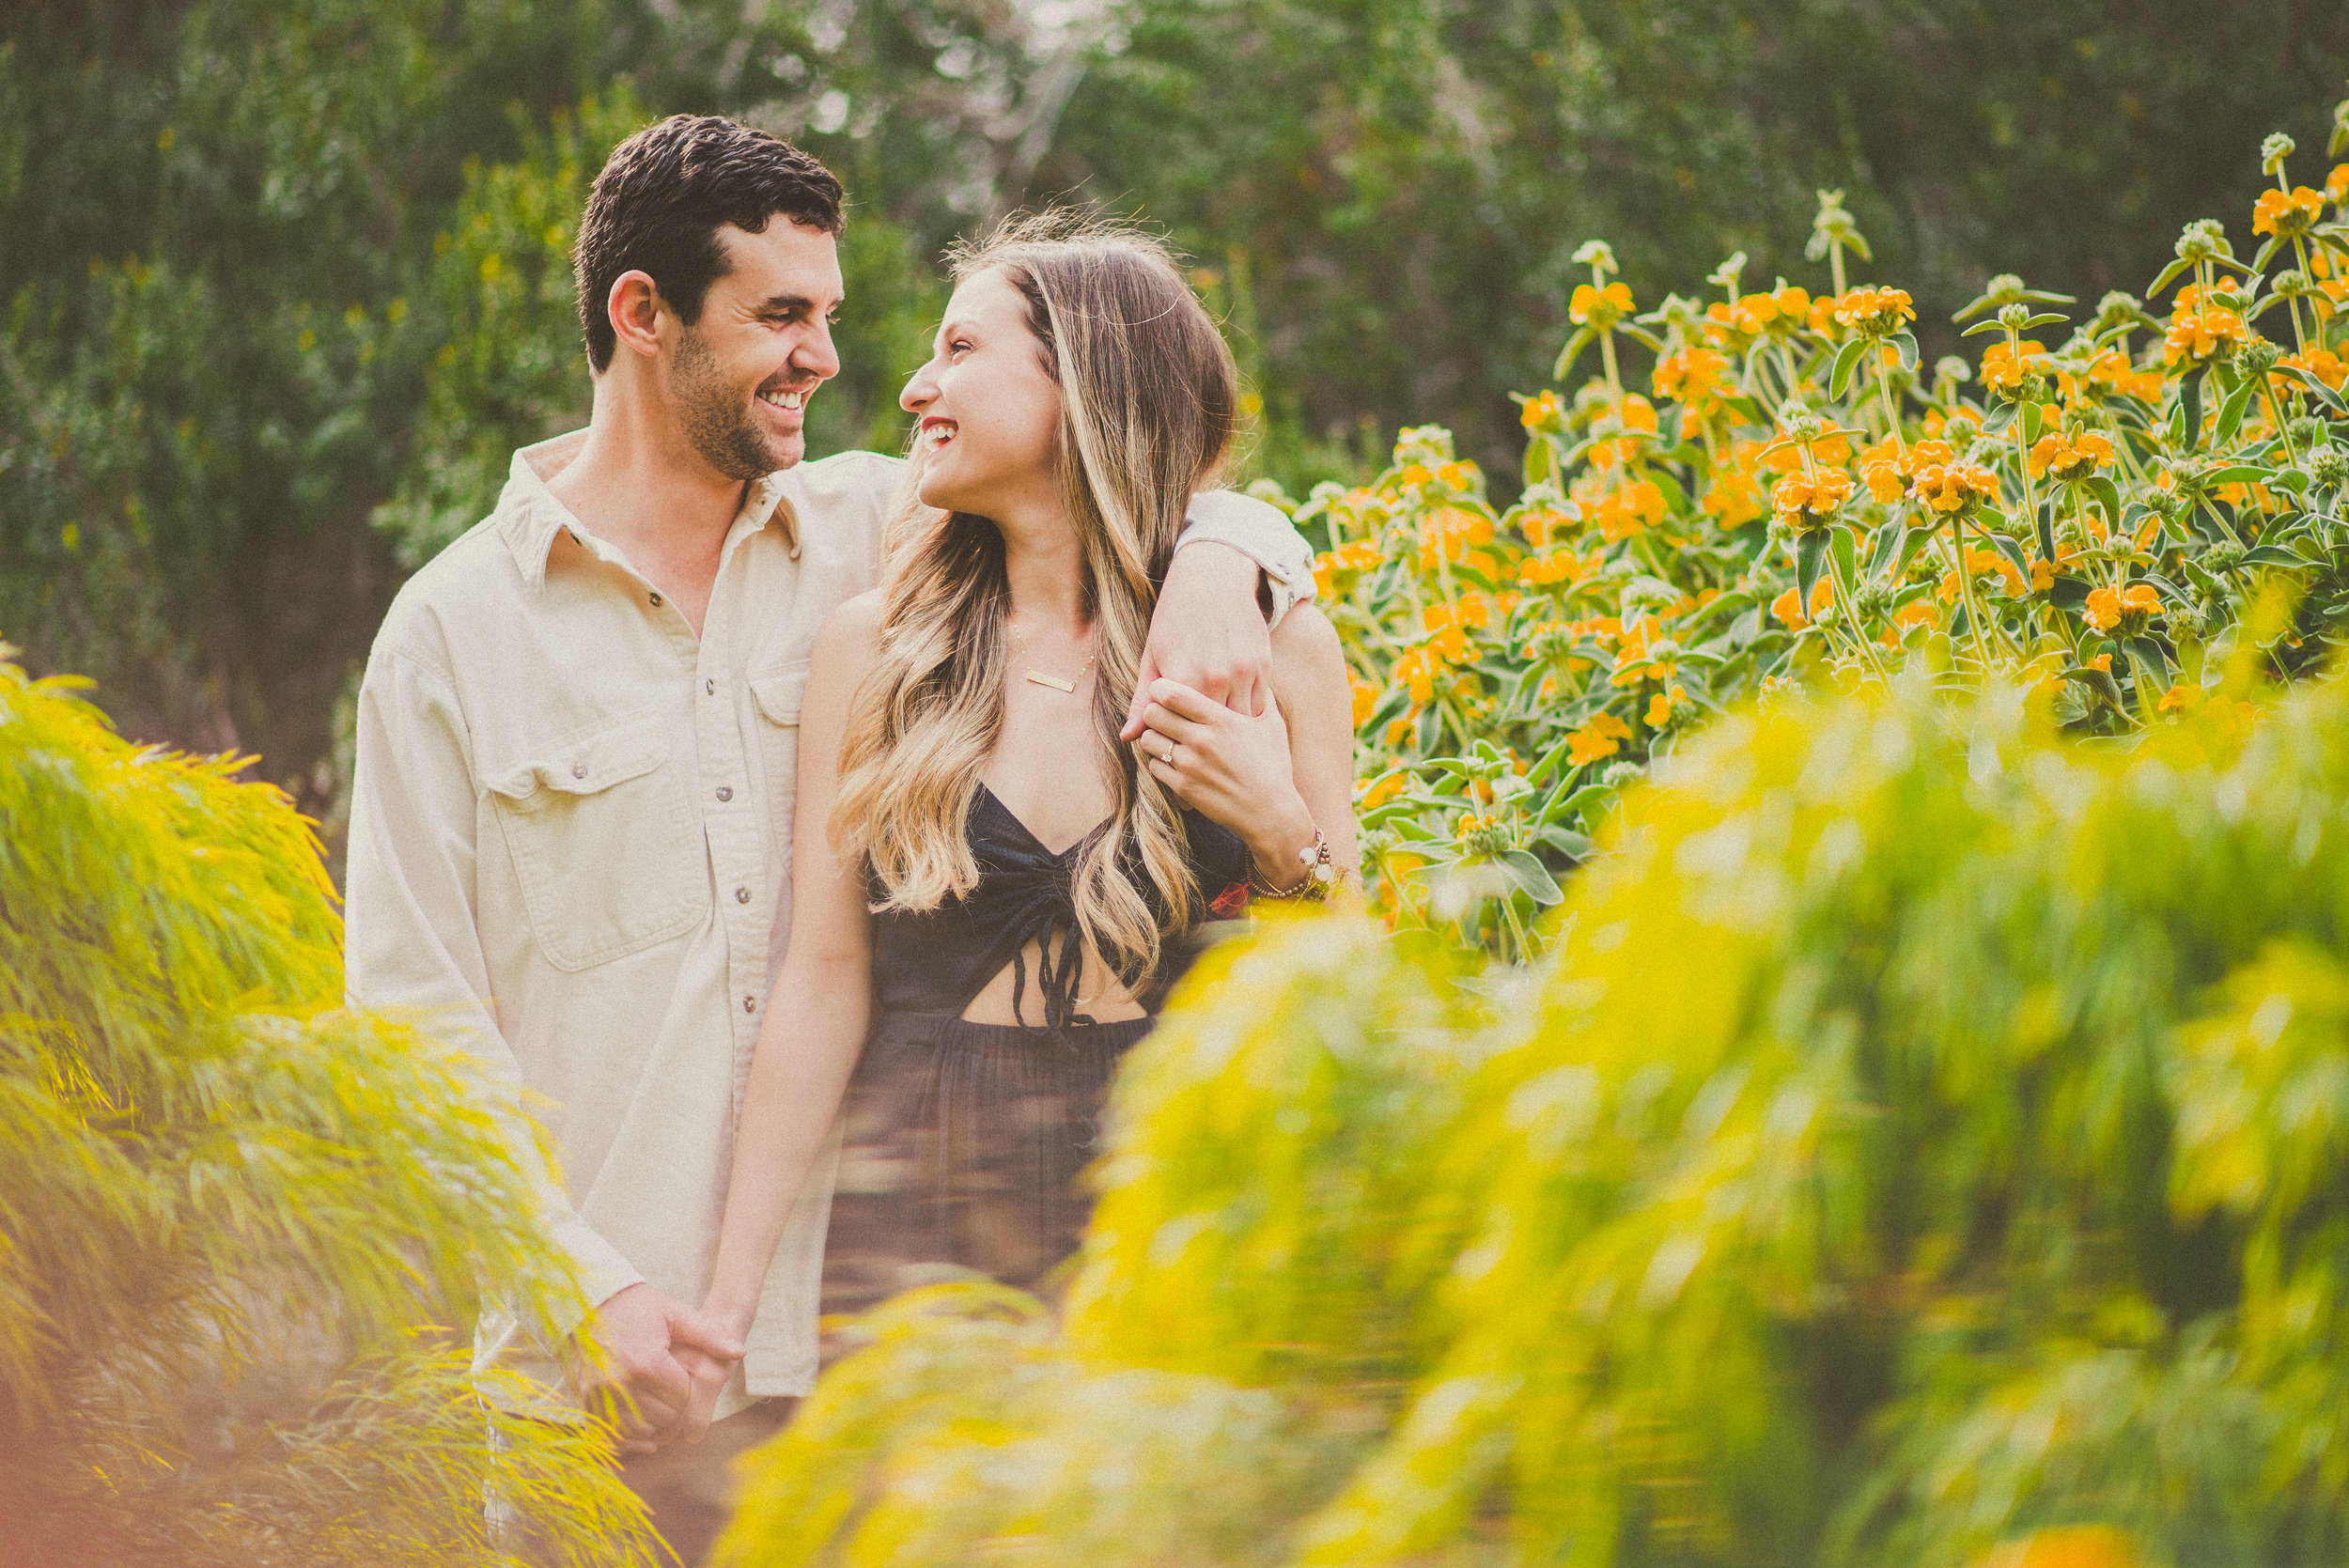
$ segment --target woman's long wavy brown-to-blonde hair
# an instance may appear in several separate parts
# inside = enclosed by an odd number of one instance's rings
[[[1238,373],[1167,249],[1083,214],[1008,218],[949,254],[954,282],[1001,272],[1059,385],[1059,479],[1095,620],[1092,721],[1116,807],[1071,876],[1085,951],[1137,984],[1163,932],[1198,911],[1177,800],[1118,742],[1158,584],[1191,493],[1221,469]],[[923,460],[916,448],[914,462]],[[907,502],[890,521],[881,657],[841,742],[832,843],[869,857],[886,908],[937,908],[980,880],[963,824],[1003,730],[1003,535],[984,516]],[[1158,890],[1156,908],[1132,871]]]

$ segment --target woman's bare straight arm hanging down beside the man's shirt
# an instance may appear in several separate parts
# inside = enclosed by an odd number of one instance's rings
[[[841,735],[857,681],[881,646],[881,596],[850,599],[815,638],[799,711],[799,805],[792,826],[792,946],[768,995],[735,1127],[726,1223],[702,1303],[749,1333],[766,1268],[832,1134],[871,1014],[871,915],[864,878],[827,843]]]

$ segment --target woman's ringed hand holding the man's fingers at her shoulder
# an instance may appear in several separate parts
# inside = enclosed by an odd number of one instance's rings
[[[1238,833],[1266,883],[1292,887],[1304,876],[1297,850],[1313,843],[1313,812],[1297,793],[1280,704],[1266,702],[1250,718],[1165,676],[1144,690],[1142,765],[1177,800]]]

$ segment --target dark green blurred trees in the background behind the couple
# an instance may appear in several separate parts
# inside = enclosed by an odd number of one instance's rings
[[[2321,0],[0,0],[0,629],[141,737],[312,812],[336,697],[505,453],[578,423],[564,270],[611,141],[768,124],[855,200],[815,451],[890,446],[933,258],[1073,195],[1163,223],[1233,324],[1252,472],[1440,420],[1506,474],[1567,256],[1818,282],[1842,188],[1926,354],[1992,270],[2142,289],[2321,141]],[[2236,237],[2248,239],[2236,225]]]

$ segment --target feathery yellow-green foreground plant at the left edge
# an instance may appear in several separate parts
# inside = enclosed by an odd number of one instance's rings
[[[237,758],[117,739],[0,646],[0,1519],[73,1563],[641,1561],[585,1430],[420,1324],[568,1277],[428,1035],[341,1012],[317,840]]]

